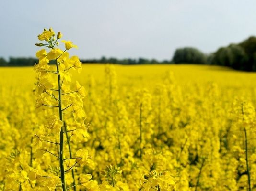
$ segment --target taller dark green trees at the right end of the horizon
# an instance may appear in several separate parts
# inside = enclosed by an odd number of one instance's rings
[[[236,70],[256,71],[256,37],[221,47],[211,54],[190,47],[176,49],[172,61],[175,64],[213,64]]]

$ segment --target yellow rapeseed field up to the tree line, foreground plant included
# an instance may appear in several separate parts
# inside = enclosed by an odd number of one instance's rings
[[[1,191],[256,190],[255,73],[62,55],[0,68]]]

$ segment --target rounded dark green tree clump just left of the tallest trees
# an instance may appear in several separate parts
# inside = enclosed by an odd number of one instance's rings
[[[196,48],[179,48],[175,50],[173,62],[175,64],[206,64],[206,55]]]

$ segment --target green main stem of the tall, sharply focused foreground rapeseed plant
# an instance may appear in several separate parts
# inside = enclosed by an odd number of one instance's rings
[[[56,62],[56,68],[58,73],[58,111],[59,111],[59,119],[63,121],[62,117],[62,107],[61,107],[61,80],[59,75],[59,69],[58,69],[58,60],[55,60]],[[62,184],[62,191],[67,191],[66,188],[66,181],[65,181],[65,170],[63,165],[63,144],[64,144],[64,136],[63,136],[63,125],[60,130],[59,134],[59,166],[60,166],[60,179]]]

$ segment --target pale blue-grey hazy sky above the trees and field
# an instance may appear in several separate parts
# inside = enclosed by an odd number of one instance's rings
[[[212,53],[256,35],[255,8],[256,0],[1,0],[0,57],[35,57],[37,35],[49,27],[81,59]]]

